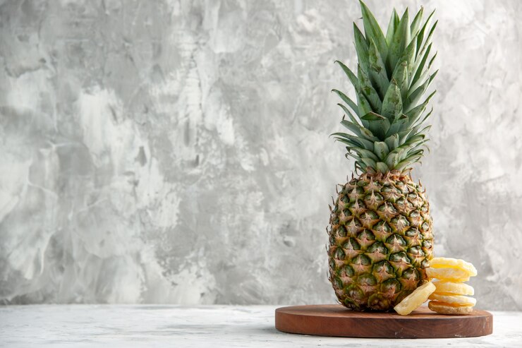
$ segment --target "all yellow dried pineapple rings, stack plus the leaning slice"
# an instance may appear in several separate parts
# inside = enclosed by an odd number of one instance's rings
[[[428,308],[437,313],[465,315],[473,311],[477,300],[467,296],[473,295],[473,287],[463,283],[477,275],[471,263],[456,258],[432,258],[426,275],[434,281],[426,282],[406,296],[394,307],[397,313],[407,316],[427,299],[431,300]]]

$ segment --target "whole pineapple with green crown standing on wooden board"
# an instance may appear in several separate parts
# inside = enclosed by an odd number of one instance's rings
[[[353,24],[358,56],[356,73],[339,63],[356,92],[341,124],[351,134],[334,133],[346,145],[361,174],[341,186],[327,229],[329,280],[341,304],[358,311],[389,311],[427,279],[433,257],[432,218],[425,190],[410,176],[423,156],[430,98],[435,78],[432,14],[423,9],[410,23],[394,10],[384,35],[361,1],[364,32]],[[351,108],[353,112],[350,111]]]

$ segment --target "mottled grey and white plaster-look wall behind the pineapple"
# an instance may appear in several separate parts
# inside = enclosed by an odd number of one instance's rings
[[[382,23],[391,1],[368,0]],[[438,256],[522,310],[522,1],[437,8]],[[386,5],[384,5],[386,4]],[[0,1],[0,303],[334,301],[356,1]]]

